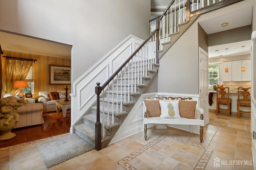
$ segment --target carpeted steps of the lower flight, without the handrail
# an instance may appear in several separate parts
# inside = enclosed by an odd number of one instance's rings
[[[136,63],[136,65],[140,65],[140,63],[142,64],[144,63],[144,68],[146,68],[145,63],[148,63],[148,62],[140,61],[139,63]],[[147,76],[141,76],[142,71],[135,66],[135,62],[133,64],[130,63],[128,67],[129,68],[126,68],[126,71],[122,71],[122,76],[119,75],[117,79],[114,81],[114,83],[109,85],[108,91],[104,93],[104,97],[103,97],[103,94],[100,96],[100,122],[104,122],[102,129],[104,128],[104,133],[105,133],[104,137],[102,138],[102,148],[105,148],[106,146],[108,146],[109,142],[112,140],[112,138],[116,134],[118,128],[122,125],[123,121],[126,119],[127,115],[130,113],[132,107],[138,101],[138,99],[140,98],[140,95],[143,93],[147,85],[150,83],[152,77],[154,77],[155,73],[158,71],[159,64],[152,63],[152,69],[144,69],[144,71],[147,71]],[[128,69],[132,70],[132,73],[134,75],[137,75],[135,79],[131,79],[131,72],[129,73]],[[140,77],[142,77],[141,83],[137,83],[138,77],[139,79]],[[128,81],[129,81],[129,86],[125,87],[126,95],[124,95],[124,85],[128,84]],[[120,84],[122,84],[122,91],[121,91]],[[130,93],[130,101],[129,101],[128,91],[129,90],[131,91],[132,87],[134,87],[135,84],[136,84],[136,90]],[[126,99],[124,99],[124,96],[126,97]],[[118,101],[116,101],[116,99],[118,99]],[[122,111],[121,111],[121,103],[122,103]],[[103,111],[103,106],[104,106],[104,111]],[[116,111],[117,107],[118,107],[118,111]],[[84,115],[80,118],[80,120],[76,122],[76,124],[74,125],[75,133],[81,138],[83,138],[84,140],[86,140],[88,143],[90,143],[92,146],[95,146],[96,115],[97,115],[97,108],[96,108],[96,102],[95,102],[94,105],[92,105],[86,111],[86,113],[84,113]],[[111,123],[111,124],[108,123],[108,119],[110,122],[112,122],[113,120],[114,123]]]

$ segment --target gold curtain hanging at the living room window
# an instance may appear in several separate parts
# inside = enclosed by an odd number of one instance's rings
[[[24,80],[32,65],[32,61],[6,59],[3,70],[3,91],[15,95],[19,89],[12,88],[15,80]]]

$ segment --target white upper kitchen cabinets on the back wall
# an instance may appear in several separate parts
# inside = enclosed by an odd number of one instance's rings
[[[225,71],[226,68],[228,72]],[[223,81],[251,81],[251,60],[223,62]]]

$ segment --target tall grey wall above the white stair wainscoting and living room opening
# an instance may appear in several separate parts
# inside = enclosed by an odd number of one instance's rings
[[[145,40],[150,33],[148,0],[1,0],[0,6],[0,30],[73,45],[72,82],[127,36]]]

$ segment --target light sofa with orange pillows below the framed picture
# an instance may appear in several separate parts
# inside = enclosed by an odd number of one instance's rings
[[[68,99],[70,100],[70,92],[68,92]],[[43,113],[56,111],[56,101],[65,100],[66,91],[39,91],[38,102],[44,106]],[[69,108],[70,109],[70,108]]]

